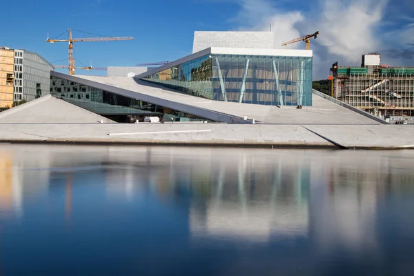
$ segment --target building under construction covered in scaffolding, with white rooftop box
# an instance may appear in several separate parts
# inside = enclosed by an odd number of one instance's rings
[[[331,73],[336,99],[387,121],[413,121],[414,68],[382,65],[380,54],[368,54],[362,56],[361,67],[336,62]]]

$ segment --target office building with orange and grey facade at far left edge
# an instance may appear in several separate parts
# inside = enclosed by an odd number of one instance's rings
[[[49,94],[50,71],[55,67],[39,54],[0,48],[0,63],[0,108]]]

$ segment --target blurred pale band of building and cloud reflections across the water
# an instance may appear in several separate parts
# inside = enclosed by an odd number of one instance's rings
[[[65,148],[0,148],[1,217],[24,215],[30,197],[47,194],[53,187],[64,190],[64,203],[70,193],[62,179],[73,174],[75,181],[86,164],[99,168],[108,164],[108,169],[97,172],[102,177],[99,187],[112,197],[138,200],[150,195],[144,193],[149,189],[160,199],[186,201],[188,221],[183,227],[190,228],[194,239],[266,242],[313,233],[323,248],[343,244],[361,251],[377,247],[378,202],[413,194],[413,162],[404,155],[395,159],[389,152],[366,152],[364,158],[355,159],[355,152],[343,151],[320,155],[317,151],[110,147],[89,150],[86,161],[85,155],[79,155],[80,148]],[[57,171],[60,167],[73,169]],[[177,196],[177,190],[186,191]],[[74,190],[72,199],[79,196]],[[411,219],[406,214],[397,216]]]

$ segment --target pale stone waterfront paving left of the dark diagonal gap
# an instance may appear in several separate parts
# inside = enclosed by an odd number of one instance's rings
[[[299,125],[0,124],[0,128],[0,141],[335,148]]]

